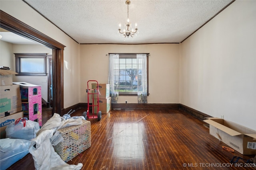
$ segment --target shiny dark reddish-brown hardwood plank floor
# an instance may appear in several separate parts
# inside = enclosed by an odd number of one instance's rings
[[[82,115],[84,110],[72,113]],[[43,111],[43,124],[51,111]],[[101,121],[91,122],[91,147],[68,164],[83,164],[83,170],[248,170],[245,162],[230,164],[242,155],[222,149],[227,146],[209,134],[206,123],[178,109],[114,109]],[[239,166],[239,167],[238,167]],[[31,154],[10,170],[34,170]]]

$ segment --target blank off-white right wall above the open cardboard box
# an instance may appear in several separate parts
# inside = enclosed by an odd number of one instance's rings
[[[180,103],[256,130],[256,1],[235,1],[181,44]]]

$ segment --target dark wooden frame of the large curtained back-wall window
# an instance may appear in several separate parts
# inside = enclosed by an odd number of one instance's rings
[[[149,88],[148,88],[148,57],[149,57],[149,53],[108,53],[110,54],[118,54],[119,58],[136,58],[137,54],[146,54],[147,55],[147,96],[149,95]],[[126,93],[126,92],[118,92],[118,96],[138,96],[138,92],[130,92],[130,93]]]

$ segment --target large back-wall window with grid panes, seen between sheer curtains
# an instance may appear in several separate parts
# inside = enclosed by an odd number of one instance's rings
[[[136,58],[137,54],[118,54],[119,61],[114,63],[114,91],[119,96],[137,96],[142,88],[142,63]],[[148,54],[147,70],[148,72]],[[148,76],[148,75],[147,75]],[[147,78],[148,94],[148,78]]]

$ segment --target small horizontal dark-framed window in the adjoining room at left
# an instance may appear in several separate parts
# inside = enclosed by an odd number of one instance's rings
[[[46,53],[15,53],[16,76],[46,76]]]

